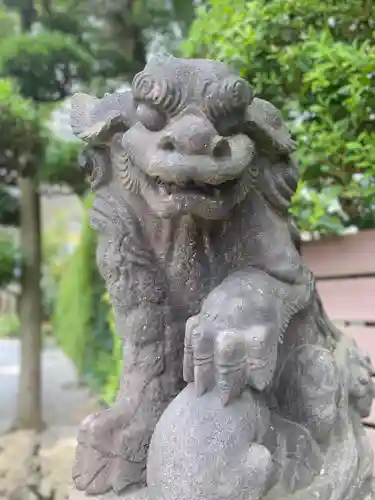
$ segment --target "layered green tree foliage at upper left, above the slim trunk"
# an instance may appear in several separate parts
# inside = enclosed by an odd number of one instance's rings
[[[16,20],[24,6],[11,4],[11,10],[0,8],[0,25],[1,13],[13,20],[13,29],[0,36],[0,168],[24,175],[38,170],[38,181],[68,184],[81,195],[86,189],[76,168],[81,145],[60,140],[46,127],[56,102],[87,81],[95,64],[82,43],[80,19],[36,2],[36,29],[20,33]]]

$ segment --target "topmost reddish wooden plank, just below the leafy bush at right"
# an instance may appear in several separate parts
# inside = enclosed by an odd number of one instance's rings
[[[317,278],[375,274],[375,230],[303,243],[302,257]]]

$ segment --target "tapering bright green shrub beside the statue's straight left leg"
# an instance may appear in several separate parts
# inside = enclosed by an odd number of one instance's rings
[[[85,212],[93,196],[87,197]],[[100,393],[113,365],[113,334],[108,321],[110,306],[103,300],[104,282],[96,268],[96,238],[88,215],[80,242],[62,267],[54,314],[57,339],[79,374]]]

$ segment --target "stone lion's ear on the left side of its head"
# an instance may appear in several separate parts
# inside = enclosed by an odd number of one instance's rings
[[[89,144],[106,144],[116,133],[126,132],[136,122],[132,92],[115,92],[102,99],[75,94],[70,103],[74,135]]]

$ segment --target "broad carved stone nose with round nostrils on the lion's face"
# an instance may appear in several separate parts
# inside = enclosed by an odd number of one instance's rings
[[[158,148],[162,151],[188,155],[210,155],[214,158],[230,156],[230,146],[220,137],[208,120],[186,116],[166,130]]]

